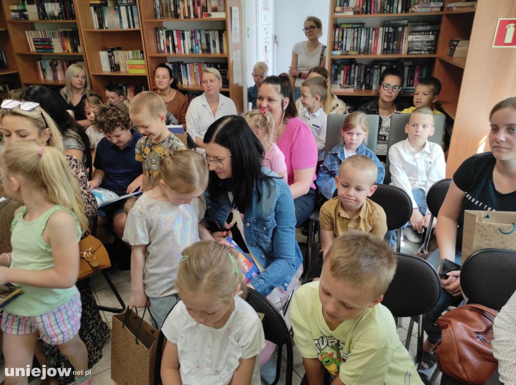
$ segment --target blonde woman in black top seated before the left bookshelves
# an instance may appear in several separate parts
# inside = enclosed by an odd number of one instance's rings
[[[59,94],[65,102],[66,108],[72,110],[74,118],[81,126],[88,128],[91,123],[84,113],[84,99],[94,95],[90,91],[88,74],[82,64],[71,64],[65,73],[66,86],[61,88]]]

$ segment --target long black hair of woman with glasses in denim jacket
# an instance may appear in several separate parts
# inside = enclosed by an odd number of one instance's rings
[[[209,173],[209,196],[217,202],[223,194],[233,192],[232,206],[244,213],[251,204],[256,182],[272,177],[262,172],[264,150],[251,127],[242,116],[227,115],[217,119],[209,126],[204,135],[204,143],[217,143],[231,152],[233,176],[219,179],[212,171]],[[256,187],[258,201],[262,191]]]

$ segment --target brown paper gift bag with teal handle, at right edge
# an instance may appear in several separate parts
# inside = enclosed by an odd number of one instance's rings
[[[516,250],[515,223],[513,211],[465,210],[461,263],[485,248]]]

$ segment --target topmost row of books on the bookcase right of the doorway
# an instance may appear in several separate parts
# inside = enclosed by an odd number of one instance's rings
[[[442,7],[439,0],[335,0],[338,15],[433,12]]]

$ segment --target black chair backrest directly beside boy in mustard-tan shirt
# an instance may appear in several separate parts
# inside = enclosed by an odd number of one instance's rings
[[[406,224],[412,215],[412,201],[405,191],[396,186],[377,185],[369,199],[377,203],[387,216],[387,228],[395,230]]]

